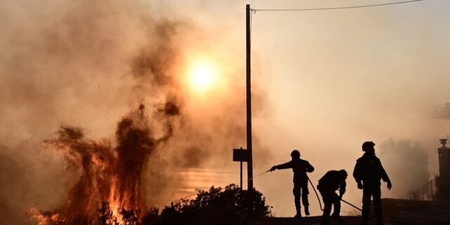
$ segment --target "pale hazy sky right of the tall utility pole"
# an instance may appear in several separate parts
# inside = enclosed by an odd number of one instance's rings
[[[249,3],[251,8],[263,9],[381,2],[392,1]],[[253,14],[252,79],[269,98],[269,116],[255,113],[254,132],[278,155],[272,164],[288,161],[290,150],[300,148],[302,156],[316,166],[311,178],[317,180],[328,169],[352,172],[364,141],[379,146],[390,138],[411,139],[429,150],[430,173],[437,174],[434,149],[439,145],[435,142],[449,134],[449,121],[432,120],[433,111],[449,101],[448,6],[446,1],[422,1]],[[238,32],[244,29],[243,15],[239,24]],[[255,165],[261,166],[257,159]],[[255,181],[275,212],[285,216],[294,213],[292,196],[284,195],[290,193],[290,173],[277,171]],[[348,182],[346,198],[360,203],[361,193],[352,178]],[[272,194],[275,191],[283,195]],[[316,204],[314,195],[310,196]],[[395,197],[386,190],[383,196]],[[351,211],[347,206],[343,210]]]

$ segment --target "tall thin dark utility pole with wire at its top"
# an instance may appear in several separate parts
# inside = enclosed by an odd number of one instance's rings
[[[251,64],[250,64],[250,4],[245,7],[246,14],[246,55],[247,55],[247,150],[248,150],[248,162],[247,162],[247,179],[248,180],[248,190],[253,190],[253,154],[252,154],[252,84],[251,84]]]

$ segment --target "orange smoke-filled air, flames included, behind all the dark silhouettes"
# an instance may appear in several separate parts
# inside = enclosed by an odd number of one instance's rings
[[[245,4],[361,2],[0,1],[0,224],[89,223],[102,204],[126,224],[127,210],[142,219],[239,185]],[[448,6],[252,11],[253,174],[297,149],[314,183],[347,170],[345,198],[361,203],[352,171],[373,141],[392,179],[383,197],[418,198],[450,134],[436,116],[450,101]],[[271,215],[295,214],[292,176],[255,177]]]

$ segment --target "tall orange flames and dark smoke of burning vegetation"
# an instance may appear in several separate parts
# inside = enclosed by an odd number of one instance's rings
[[[60,127],[56,139],[45,143],[62,152],[68,169],[80,171],[81,175],[70,189],[68,205],[61,212],[39,212],[32,208],[32,217],[39,224],[80,224],[80,221],[95,221],[98,209],[105,210],[104,204],[108,203],[111,211],[108,224],[113,221],[123,224],[126,212],[134,212],[140,220],[140,210],[146,209],[144,168],[153,150],[172,136],[171,121],[177,115],[179,106],[174,103],[166,103],[156,110],[154,117],[165,127],[162,136],[155,137],[146,110],[140,105],[118,122],[115,146],[108,141],[87,139],[77,127]]]

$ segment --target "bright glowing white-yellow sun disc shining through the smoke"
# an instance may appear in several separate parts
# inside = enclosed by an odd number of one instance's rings
[[[194,89],[203,91],[212,88],[217,76],[217,68],[213,61],[200,59],[192,63],[189,80]]]

